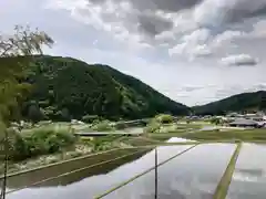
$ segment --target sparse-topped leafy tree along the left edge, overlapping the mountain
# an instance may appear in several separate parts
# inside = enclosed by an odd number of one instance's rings
[[[42,45],[53,44],[53,40],[38,29],[17,25],[13,35],[0,34],[0,146],[4,153],[4,180],[1,198],[6,198],[7,163],[8,163],[8,130],[9,121],[17,111],[19,102],[29,93],[25,84],[28,69],[31,66],[32,54],[42,54]],[[2,155],[2,154],[1,154]]]

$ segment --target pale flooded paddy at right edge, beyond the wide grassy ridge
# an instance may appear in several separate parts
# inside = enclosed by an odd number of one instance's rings
[[[266,147],[244,144],[227,192],[228,199],[266,198]]]

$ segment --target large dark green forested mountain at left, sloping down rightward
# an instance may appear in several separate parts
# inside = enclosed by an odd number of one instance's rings
[[[143,82],[108,65],[86,64],[71,57],[37,56],[28,80],[31,95],[24,117],[47,119],[143,118],[157,113],[185,115],[190,108]]]

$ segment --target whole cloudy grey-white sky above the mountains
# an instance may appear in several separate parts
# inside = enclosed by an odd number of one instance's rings
[[[266,0],[1,0],[1,32],[30,24],[45,52],[104,63],[186,105],[266,90]]]

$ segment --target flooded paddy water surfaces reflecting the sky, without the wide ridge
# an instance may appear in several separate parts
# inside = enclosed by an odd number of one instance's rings
[[[185,142],[172,138],[171,142]],[[16,176],[8,181],[8,199],[211,199],[223,177],[235,144],[200,144],[157,147],[157,184],[155,184],[155,150],[132,150],[123,158],[85,168],[91,160],[76,160],[79,166],[63,166],[62,174],[43,169],[29,176]],[[228,199],[266,198],[266,147],[243,144],[232,182]],[[111,157],[108,157],[109,159]],[[172,158],[170,161],[167,161]],[[106,159],[106,157],[105,157]],[[100,161],[99,161],[100,163]],[[84,168],[75,171],[78,168]],[[149,170],[135,180],[115,189],[124,181]],[[51,178],[57,177],[58,178]],[[32,182],[43,180],[37,185]],[[30,180],[31,179],[31,180]],[[157,185],[157,186],[155,186]],[[18,189],[23,188],[24,189]],[[18,190],[16,190],[18,189]],[[103,195],[108,190],[109,195]]]

